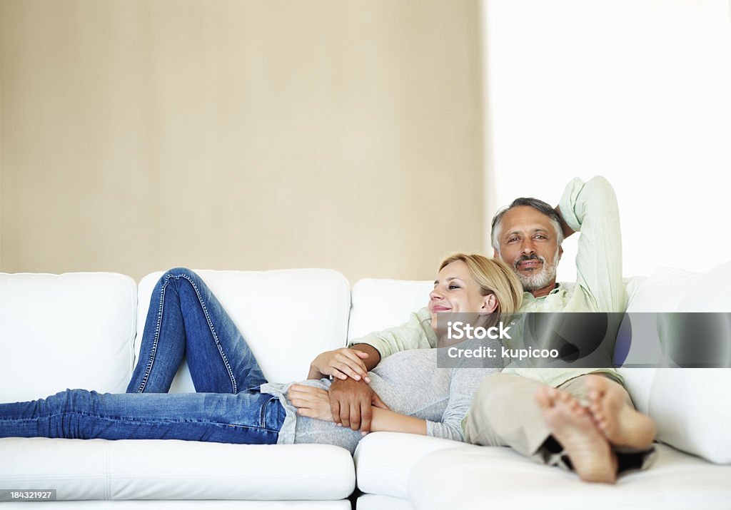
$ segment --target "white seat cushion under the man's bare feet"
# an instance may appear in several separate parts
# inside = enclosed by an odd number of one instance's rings
[[[616,485],[580,482],[574,473],[534,463],[509,448],[442,449],[414,465],[409,496],[419,510],[728,508],[731,466],[670,446],[657,448],[648,471],[627,473]]]

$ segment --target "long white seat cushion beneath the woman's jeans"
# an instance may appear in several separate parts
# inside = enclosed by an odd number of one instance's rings
[[[347,450],[329,445],[0,439],[0,480],[59,500],[338,500],[355,488]]]

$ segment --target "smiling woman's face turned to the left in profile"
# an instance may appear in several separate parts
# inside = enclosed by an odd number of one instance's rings
[[[461,260],[447,264],[439,271],[434,289],[429,293],[431,326],[435,330],[437,313],[490,313],[496,308],[495,295],[480,294],[480,285]]]

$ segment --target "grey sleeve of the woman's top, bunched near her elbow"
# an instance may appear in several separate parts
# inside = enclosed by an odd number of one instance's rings
[[[450,384],[450,400],[444,409],[442,422],[426,422],[427,435],[436,438],[464,441],[462,420],[469,411],[472,399],[485,376],[499,372],[498,368],[454,368]]]

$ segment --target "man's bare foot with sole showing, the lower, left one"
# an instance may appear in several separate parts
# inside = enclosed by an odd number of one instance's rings
[[[578,401],[550,387],[540,387],[536,400],[553,437],[564,447],[584,482],[617,481],[617,457]]]

